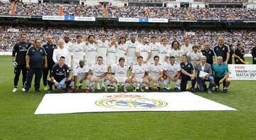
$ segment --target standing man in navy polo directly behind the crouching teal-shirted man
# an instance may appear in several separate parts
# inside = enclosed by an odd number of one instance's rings
[[[223,63],[228,65],[228,60],[230,58],[230,49],[228,45],[224,44],[224,38],[222,36],[218,37],[218,45],[215,45],[213,50],[217,56],[221,56],[223,58]]]

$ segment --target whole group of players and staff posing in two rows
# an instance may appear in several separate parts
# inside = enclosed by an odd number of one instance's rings
[[[225,44],[222,36],[215,46],[208,42],[193,45],[188,36],[182,43],[156,36],[108,38],[101,35],[96,40],[93,35],[87,38],[78,35],[75,43],[71,43],[69,36],[60,38],[58,43],[46,36],[45,44],[41,38],[35,38],[33,43],[28,43],[27,38],[21,34],[13,48],[13,92],[18,90],[22,73],[23,92],[31,88],[34,75],[36,92],[41,92],[43,77],[43,87],[48,93],[53,90],[95,92],[95,89],[143,92],[153,88],[166,92],[171,91],[172,82],[176,92],[212,93],[221,88],[226,93],[230,85],[228,64],[233,58],[236,64],[245,63],[242,43],[233,48]],[[256,61],[255,53],[256,48],[252,48],[252,63]]]

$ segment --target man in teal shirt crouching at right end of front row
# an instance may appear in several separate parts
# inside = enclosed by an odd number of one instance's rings
[[[217,57],[217,63],[213,64],[214,82],[216,85],[216,91],[220,90],[220,84],[223,84],[223,92],[228,92],[228,85],[230,85],[230,78],[228,67],[223,63],[221,56]]]

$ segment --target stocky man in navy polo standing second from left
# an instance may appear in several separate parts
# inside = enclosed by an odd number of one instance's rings
[[[31,81],[35,74],[35,91],[40,92],[40,80],[43,72],[43,61],[44,68],[47,68],[47,57],[46,50],[41,47],[41,40],[35,39],[35,46],[28,48],[26,54],[26,68],[28,69],[27,80],[25,84],[25,92],[28,92],[31,87]]]

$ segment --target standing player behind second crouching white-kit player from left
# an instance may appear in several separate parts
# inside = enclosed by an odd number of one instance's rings
[[[101,40],[97,42],[97,57],[101,56],[103,58],[103,63],[107,63],[107,47],[109,43],[107,42],[107,36],[101,35]]]

